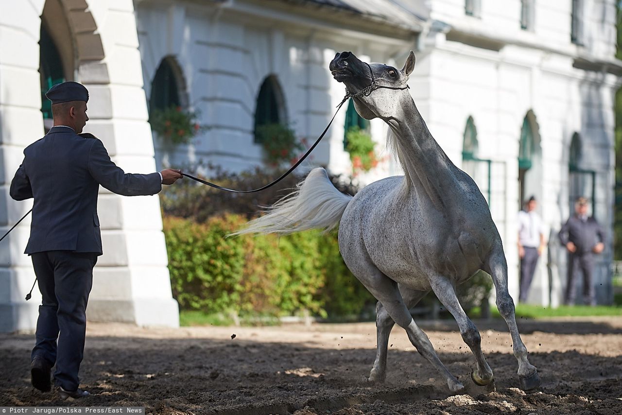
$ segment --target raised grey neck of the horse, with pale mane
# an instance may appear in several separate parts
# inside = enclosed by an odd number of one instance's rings
[[[391,146],[406,176],[406,192],[427,195],[437,208],[443,208],[444,198],[456,183],[455,166],[430,134],[412,98],[403,100],[396,116],[384,121],[391,128]]]

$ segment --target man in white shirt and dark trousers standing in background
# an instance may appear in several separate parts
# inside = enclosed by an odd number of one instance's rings
[[[527,301],[529,287],[536,271],[538,258],[544,250],[542,219],[536,212],[535,197],[525,203],[525,210],[518,212],[518,254],[521,257],[521,292],[519,302]]]

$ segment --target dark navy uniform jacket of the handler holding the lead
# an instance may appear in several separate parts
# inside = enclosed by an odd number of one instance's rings
[[[101,255],[97,196],[100,184],[119,195],[153,195],[159,173],[126,174],[92,134],[57,126],[24,149],[11,197],[34,197],[27,254],[68,250]]]

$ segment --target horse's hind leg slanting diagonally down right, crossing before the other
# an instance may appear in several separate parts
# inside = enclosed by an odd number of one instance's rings
[[[361,277],[361,273],[357,272],[355,273],[356,277],[358,277],[369,292],[383,304],[384,309],[391,319],[396,322],[397,325],[406,329],[408,338],[411,340],[412,345],[417,348],[417,352],[432,363],[432,365],[445,376],[447,385],[452,392],[462,390],[464,388],[462,383],[447,370],[445,365],[443,365],[434,351],[430,339],[425,335],[423,330],[419,329],[415,320],[412,319],[411,312],[408,310],[408,307],[406,307],[406,304],[404,304],[402,296],[399,293],[397,283],[381,273],[373,264],[368,264],[366,267],[357,267],[357,271],[362,268],[367,268],[365,275]]]

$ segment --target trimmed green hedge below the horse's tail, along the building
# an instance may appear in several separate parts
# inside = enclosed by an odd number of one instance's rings
[[[374,298],[346,268],[337,233],[226,235],[242,215],[165,217],[173,296],[182,309],[239,315],[360,315]]]

